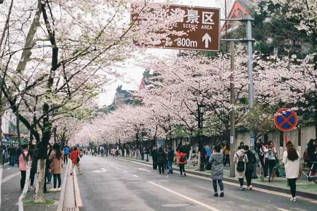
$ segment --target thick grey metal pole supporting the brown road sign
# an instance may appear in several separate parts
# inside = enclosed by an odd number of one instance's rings
[[[252,113],[253,108],[253,99],[254,99],[254,89],[253,89],[253,64],[252,64],[252,58],[253,58],[253,52],[252,52],[252,25],[251,21],[254,20],[250,15],[247,15],[245,17],[247,21],[247,53],[248,53],[248,78],[249,78],[249,108],[250,113]],[[251,123],[252,124],[252,123]],[[250,130],[250,150],[253,153],[256,153],[255,150],[255,142],[254,142],[254,133],[252,130]],[[257,169],[256,165],[254,164],[254,171],[252,174],[252,178],[257,178]]]

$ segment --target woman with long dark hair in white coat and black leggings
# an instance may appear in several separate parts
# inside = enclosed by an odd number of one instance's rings
[[[290,201],[296,202],[296,180],[299,173],[300,155],[291,141],[286,143],[282,162],[285,165],[286,178],[291,189]]]

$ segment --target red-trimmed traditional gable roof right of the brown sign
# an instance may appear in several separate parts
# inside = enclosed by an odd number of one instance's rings
[[[243,18],[247,14],[249,14],[249,10],[251,8],[254,8],[256,5],[257,4],[253,0],[236,0],[232,5],[232,8],[227,19]],[[226,26],[228,28],[228,32],[232,32],[236,28],[238,28],[239,25],[240,23],[237,21],[228,20],[222,26],[221,32],[224,32],[226,30]]]

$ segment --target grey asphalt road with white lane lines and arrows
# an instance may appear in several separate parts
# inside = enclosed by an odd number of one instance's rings
[[[178,172],[159,174],[151,166],[116,158],[85,156],[81,165],[78,183],[83,211],[317,210],[317,200],[300,198],[293,203],[288,194],[240,191],[228,182],[225,197],[215,198],[209,179],[180,177]]]

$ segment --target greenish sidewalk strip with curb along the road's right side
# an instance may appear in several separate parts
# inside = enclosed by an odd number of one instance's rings
[[[149,166],[152,166],[152,157],[151,157],[151,159],[149,157],[149,162],[141,161],[140,159],[135,159],[134,157],[133,158],[116,157],[116,158],[128,159],[128,160],[133,160],[133,161],[137,161],[137,162],[141,162],[141,163],[147,163]],[[145,159],[146,159],[146,157],[145,157]],[[176,165],[173,165],[173,169],[179,170],[178,166],[176,166]],[[193,166],[189,166],[189,165],[185,166],[185,170],[191,174],[209,177],[209,178],[211,177],[210,170],[199,171],[199,170],[197,170],[197,167],[193,167]],[[229,170],[224,170],[223,180],[239,184],[239,180],[236,178],[229,177],[229,174],[230,174]],[[287,179],[286,178],[275,177],[273,182],[268,182],[267,179],[264,180],[264,182],[262,182],[259,178],[259,179],[253,179],[252,183],[253,183],[254,187],[258,187],[258,188],[262,188],[262,189],[266,189],[266,190],[271,190],[271,191],[282,192],[282,193],[290,193],[290,189],[289,189],[289,187],[287,187]],[[310,199],[317,199],[317,184],[315,184],[314,182],[298,180],[296,182],[296,194],[298,196],[302,196],[302,197],[306,197],[306,198],[310,198]]]

